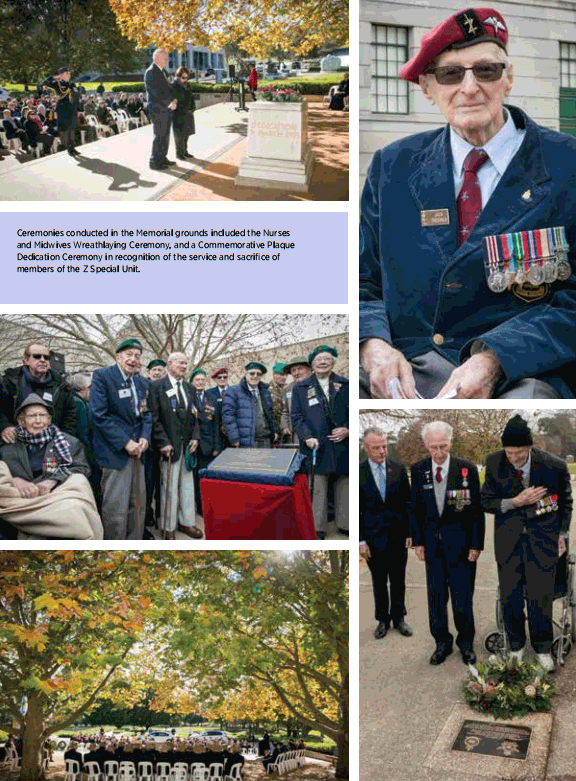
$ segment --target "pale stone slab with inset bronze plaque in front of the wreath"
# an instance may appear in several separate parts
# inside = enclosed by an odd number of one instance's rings
[[[424,765],[464,778],[545,778],[554,716],[498,721],[455,705]]]

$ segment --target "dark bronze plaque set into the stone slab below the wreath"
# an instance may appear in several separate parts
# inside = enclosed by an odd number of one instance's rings
[[[491,757],[526,759],[532,727],[486,721],[465,721],[452,751],[485,754]]]

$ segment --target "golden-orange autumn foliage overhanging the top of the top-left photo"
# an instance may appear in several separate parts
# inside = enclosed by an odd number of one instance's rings
[[[347,0],[110,0],[120,28],[139,46],[181,49],[188,42],[224,48],[233,41],[252,56],[276,49],[306,55],[326,40],[348,42]]]

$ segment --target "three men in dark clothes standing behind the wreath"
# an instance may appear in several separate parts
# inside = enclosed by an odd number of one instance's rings
[[[570,475],[564,461],[534,447],[527,422],[513,416],[502,432],[503,449],[486,460],[484,483],[471,461],[451,453],[453,429],[435,421],[422,428],[429,457],[412,467],[387,457],[387,436],[378,428],[363,435],[368,459],[360,466],[360,554],[372,575],[374,636],[392,625],[410,637],[406,621],[408,549],[426,567],[430,664],[452,653],[448,601],[456,645],[465,664],[476,662],[474,585],[484,548],[484,513],[495,516],[504,648],[521,660],[530,643],[545,670],[554,669],[552,603],[558,560],[567,551],[572,517]],[[526,612],[525,612],[526,609]]]

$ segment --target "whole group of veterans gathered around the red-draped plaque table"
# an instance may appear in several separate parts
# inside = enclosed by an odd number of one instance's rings
[[[113,365],[65,379],[40,342],[0,382],[0,534],[143,539],[158,525],[200,539],[200,471],[227,447],[298,447],[314,463],[317,536],[348,533],[348,380],[320,345],[272,369],[249,361],[237,385],[180,352],[142,376],[143,346],[121,341]],[[292,382],[288,383],[291,377]]]

